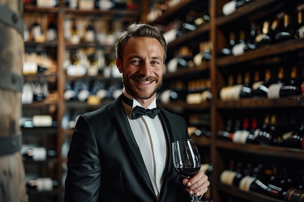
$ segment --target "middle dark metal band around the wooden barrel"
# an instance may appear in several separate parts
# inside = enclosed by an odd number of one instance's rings
[[[0,90],[22,91],[22,77],[5,70],[0,70]]]

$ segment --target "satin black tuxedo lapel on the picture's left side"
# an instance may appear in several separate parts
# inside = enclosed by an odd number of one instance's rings
[[[114,117],[117,121],[117,125],[120,130],[120,134],[123,136],[123,139],[126,141],[127,147],[129,148],[130,153],[137,165],[137,169],[139,172],[136,171],[136,175],[138,175],[138,174],[142,175],[143,178],[145,179],[144,182],[147,184],[147,186],[151,187],[151,191],[154,193],[152,182],[150,180],[148,171],[146,169],[145,163],[140,154],[139,147],[133,136],[126,113],[122,107],[121,95],[112,102],[112,111],[113,111]],[[143,186],[146,186],[146,185],[143,185]]]

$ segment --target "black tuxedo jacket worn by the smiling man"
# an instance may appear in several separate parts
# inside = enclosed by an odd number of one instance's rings
[[[171,151],[173,141],[189,138],[186,121],[165,109],[159,115],[168,148],[159,200],[119,96],[78,118],[68,152],[65,202],[190,201]]]

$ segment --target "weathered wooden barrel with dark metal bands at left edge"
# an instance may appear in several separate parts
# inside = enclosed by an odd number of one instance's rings
[[[27,202],[21,158],[23,0],[0,0],[0,202]]]

